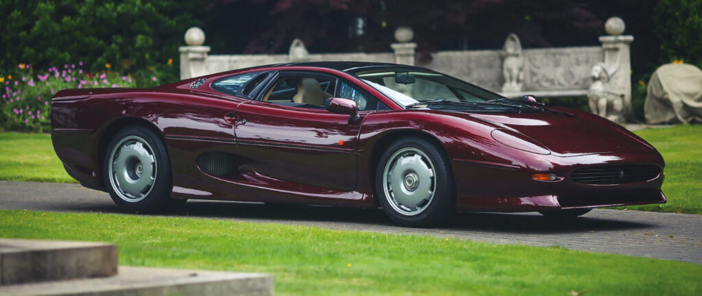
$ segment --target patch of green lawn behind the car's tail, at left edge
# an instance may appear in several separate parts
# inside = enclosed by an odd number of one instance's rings
[[[77,183],[46,134],[0,133],[0,180]]]

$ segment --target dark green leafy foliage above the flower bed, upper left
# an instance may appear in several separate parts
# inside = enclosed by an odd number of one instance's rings
[[[183,32],[201,25],[193,1],[3,0],[0,68],[85,62],[131,71],[176,59]]]

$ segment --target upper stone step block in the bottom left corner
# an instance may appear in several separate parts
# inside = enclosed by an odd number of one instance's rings
[[[115,274],[114,244],[0,238],[0,285]]]

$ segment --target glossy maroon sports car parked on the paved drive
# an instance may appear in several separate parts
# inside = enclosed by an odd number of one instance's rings
[[[663,158],[616,123],[420,67],[269,65],[53,97],[66,171],[147,212],[187,199],[576,217],[665,203]]]

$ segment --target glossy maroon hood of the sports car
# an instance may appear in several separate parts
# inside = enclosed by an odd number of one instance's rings
[[[583,112],[468,114],[496,128],[513,130],[542,144],[555,156],[607,152],[651,152],[649,144],[607,119]],[[528,138],[526,139],[528,140]]]

